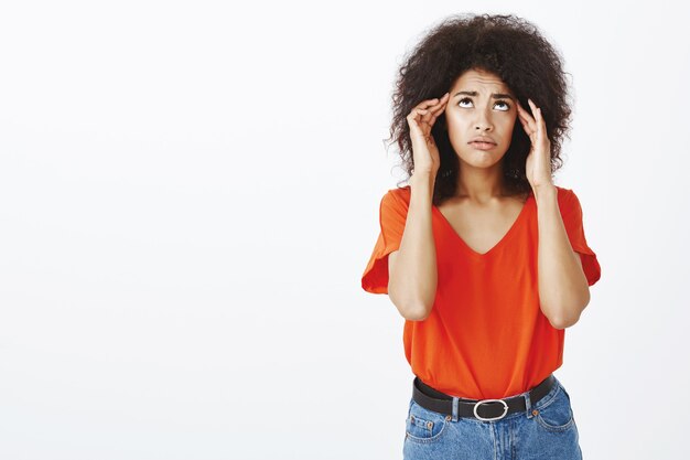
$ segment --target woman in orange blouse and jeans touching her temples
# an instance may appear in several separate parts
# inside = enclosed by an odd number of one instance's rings
[[[381,200],[362,286],[406,319],[406,459],[582,458],[552,372],[601,268],[552,180],[567,89],[559,54],[513,15],[446,19],[400,69],[409,182]]]

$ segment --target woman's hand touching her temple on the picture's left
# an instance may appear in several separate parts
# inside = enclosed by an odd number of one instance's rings
[[[441,99],[427,99],[418,104],[407,116],[410,127],[410,140],[412,141],[412,159],[414,161],[414,173],[429,173],[435,178],[441,167],[439,148],[431,135],[431,128],[439,115],[445,110],[449,100],[449,93]]]

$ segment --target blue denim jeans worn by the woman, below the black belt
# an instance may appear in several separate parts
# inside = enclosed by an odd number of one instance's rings
[[[403,460],[581,460],[570,395],[560,381],[536,404],[529,392],[520,396],[526,411],[490,421],[446,416],[410,398]]]

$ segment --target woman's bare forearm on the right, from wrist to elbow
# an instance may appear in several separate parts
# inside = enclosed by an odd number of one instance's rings
[[[541,311],[557,329],[580,320],[590,302],[590,286],[580,255],[572,249],[558,205],[556,186],[535,192],[539,226],[539,302]]]

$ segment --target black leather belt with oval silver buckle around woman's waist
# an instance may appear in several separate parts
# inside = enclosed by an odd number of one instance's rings
[[[535,405],[545,397],[553,386],[553,374],[549,374],[539,385],[529,391],[529,400]],[[453,396],[439,392],[414,376],[412,382],[412,399],[425,409],[449,416],[453,415]],[[505,399],[465,399],[457,400],[457,416],[471,417],[478,420],[498,420],[508,414],[526,411],[527,406],[522,396],[513,396]]]

